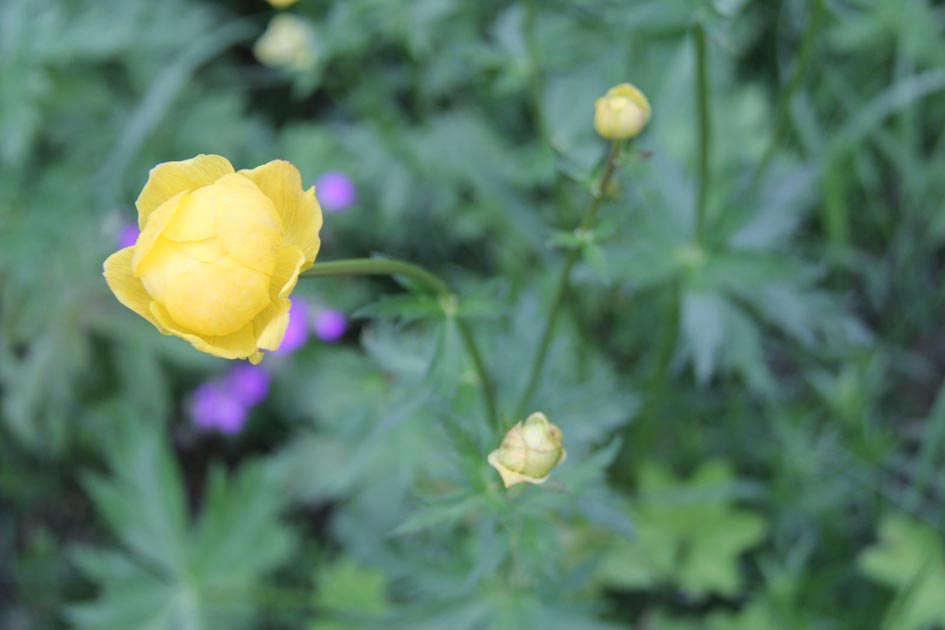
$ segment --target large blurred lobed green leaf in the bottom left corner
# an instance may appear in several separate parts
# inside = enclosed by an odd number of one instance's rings
[[[90,477],[86,487],[125,551],[75,550],[75,564],[99,592],[70,607],[69,619],[96,630],[246,627],[258,609],[254,587],[293,547],[279,522],[281,477],[259,462],[229,477],[214,469],[191,522],[157,428],[132,425],[110,459],[112,476]]]

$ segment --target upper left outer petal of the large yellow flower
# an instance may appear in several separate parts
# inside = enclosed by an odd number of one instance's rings
[[[152,212],[174,195],[212,184],[233,172],[233,165],[220,155],[198,155],[189,160],[164,162],[151,169],[148,182],[138,195],[138,227],[142,230]]]

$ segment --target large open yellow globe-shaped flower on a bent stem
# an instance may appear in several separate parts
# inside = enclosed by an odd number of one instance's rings
[[[289,323],[289,294],[318,254],[322,211],[298,169],[233,171],[198,155],[151,169],[137,242],[105,261],[118,301],[165,335],[226,359],[262,359]]]

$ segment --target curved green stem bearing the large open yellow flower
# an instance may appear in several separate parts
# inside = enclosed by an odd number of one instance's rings
[[[300,277],[327,278],[332,276],[406,276],[416,280],[425,289],[441,300],[455,300],[455,295],[450,290],[449,285],[443,282],[439,277],[423,267],[401,260],[386,260],[382,258],[332,260],[317,263],[308,271],[302,272]],[[503,425],[502,419],[499,417],[495,390],[493,389],[492,379],[489,377],[489,372],[486,369],[486,364],[482,359],[482,353],[479,351],[479,346],[476,345],[475,336],[469,324],[461,317],[456,318],[456,326],[459,328],[460,336],[463,338],[463,344],[466,346],[466,352],[479,377],[483,408],[485,409],[486,416],[489,422],[495,427],[496,431],[501,432]]]

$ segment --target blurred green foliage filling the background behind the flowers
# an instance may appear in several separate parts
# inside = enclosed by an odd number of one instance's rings
[[[0,627],[945,626],[940,4],[286,11],[301,66],[254,57],[263,0],[0,1]],[[628,80],[653,119],[575,233]],[[100,275],[148,169],[197,153],[346,173],[320,260],[417,261],[458,310],[300,282],[352,331],[200,432],[225,362]],[[506,491],[457,318],[520,420],[571,248],[528,409],[568,459]]]

